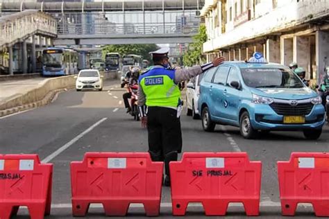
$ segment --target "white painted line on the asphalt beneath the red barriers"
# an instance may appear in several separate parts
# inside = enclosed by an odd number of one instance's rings
[[[234,202],[231,202],[229,204],[229,207],[239,207],[239,206],[242,206],[242,204],[234,203]],[[260,206],[261,207],[280,207],[281,203],[280,202],[264,201],[264,202],[260,202]],[[301,203],[301,204],[298,204],[298,206],[312,207],[312,204]],[[67,204],[51,204],[52,209],[71,209],[71,207],[72,207],[72,204],[70,204],[70,203],[67,203]],[[129,207],[144,208],[144,205],[143,204],[132,203],[132,204],[130,204]],[[171,204],[171,202],[162,202],[160,204],[160,207],[162,207],[162,208],[170,207],[171,208],[172,204]],[[189,207],[203,207],[203,205],[201,203],[189,203]],[[90,208],[92,208],[92,209],[103,208],[103,204],[91,204]]]

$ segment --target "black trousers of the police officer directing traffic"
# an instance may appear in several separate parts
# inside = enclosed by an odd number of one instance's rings
[[[147,130],[149,153],[153,161],[165,161],[165,173],[169,176],[169,162],[177,161],[182,151],[182,132],[176,109],[148,107]]]

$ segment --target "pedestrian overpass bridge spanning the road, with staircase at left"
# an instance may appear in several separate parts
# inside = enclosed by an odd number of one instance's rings
[[[37,47],[192,42],[204,1],[0,3],[0,74],[35,72]]]

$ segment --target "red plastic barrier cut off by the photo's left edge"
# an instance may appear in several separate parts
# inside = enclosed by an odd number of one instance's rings
[[[9,219],[20,206],[31,219],[50,214],[53,164],[37,155],[0,155],[0,218]]]

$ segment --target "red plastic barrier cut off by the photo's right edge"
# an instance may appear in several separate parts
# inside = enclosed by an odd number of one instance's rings
[[[278,161],[282,216],[294,216],[298,203],[311,203],[316,216],[329,216],[329,154],[292,152]]]

